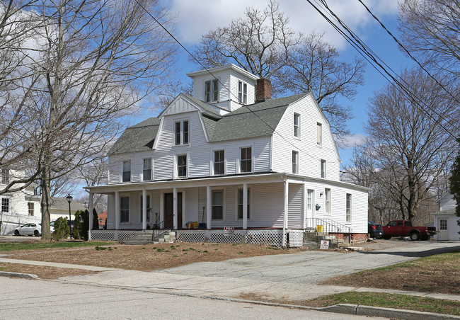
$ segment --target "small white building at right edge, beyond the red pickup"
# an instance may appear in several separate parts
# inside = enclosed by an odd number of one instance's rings
[[[435,227],[437,234],[435,240],[439,241],[459,241],[460,240],[460,226],[457,221],[460,217],[455,215],[456,201],[454,195],[445,193],[439,200],[439,211],[432,213],[435,217]]]

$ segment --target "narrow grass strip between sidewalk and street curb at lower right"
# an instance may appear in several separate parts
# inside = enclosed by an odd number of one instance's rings
[[[362,304],[372,307],[408,309],[460,316],[460,302],[409,295],[391,295],[377,292],[344,292],[318,297],[304,302],[306,306],[328,307],[334,304]]]

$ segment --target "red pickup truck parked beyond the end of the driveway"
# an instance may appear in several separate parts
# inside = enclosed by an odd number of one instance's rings
[[[412,222],[406,220],[393,220],[381,227],[384,239],[392,236],[410,236],[410,240],[428,240],[436,233],[435,227],[413,227]]]

